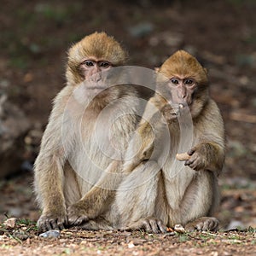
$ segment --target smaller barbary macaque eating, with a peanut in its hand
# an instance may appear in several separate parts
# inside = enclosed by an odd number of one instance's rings
[[[209,96],[207,71],[194,56],[178,50],[159,73],[166,82],[156,85],[137,128],[143,143],[139,148],[137,139],[131,139],[127,149],[133,157],[123,172],[130,174],[120,183],[114,203],[119,225],[150,232],[165,232],[175,224],[217,230],[212,213],[224,166],[224,122]],[[162,136],[166,127],[170,140]]]

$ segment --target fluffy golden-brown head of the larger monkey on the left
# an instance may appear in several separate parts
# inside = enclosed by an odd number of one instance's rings
[[[123,65],[126,58],[125,50],[105,32],[90,34],[68,50],[67,83],[76,86],[85,82],[89,89],[103,89],[105,71]]]

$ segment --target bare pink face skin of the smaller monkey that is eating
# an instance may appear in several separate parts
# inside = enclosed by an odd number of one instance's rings
[[[172,103],[191,105],[193,93],[197,87],[195,79],[172,77],[169,81]]]

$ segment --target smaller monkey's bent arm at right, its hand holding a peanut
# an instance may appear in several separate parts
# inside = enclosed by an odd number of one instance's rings
[[[195,131],[199,131],[199,139],[195,147],[189,149],[185,165],[195,171],[209,170],[219,174],[224,165],[224,123],[212,100],[195,123]]]

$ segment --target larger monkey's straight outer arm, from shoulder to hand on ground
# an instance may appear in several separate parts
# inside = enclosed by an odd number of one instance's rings
[[[38,219],[39,230],[62,229],[67,216],[63,195],[65,157],[61,148],[63,109],[60,98],[56,97],[55,107],[50,114],[40,153],[34,165],[34,188],[42,208],[42,215]]]

